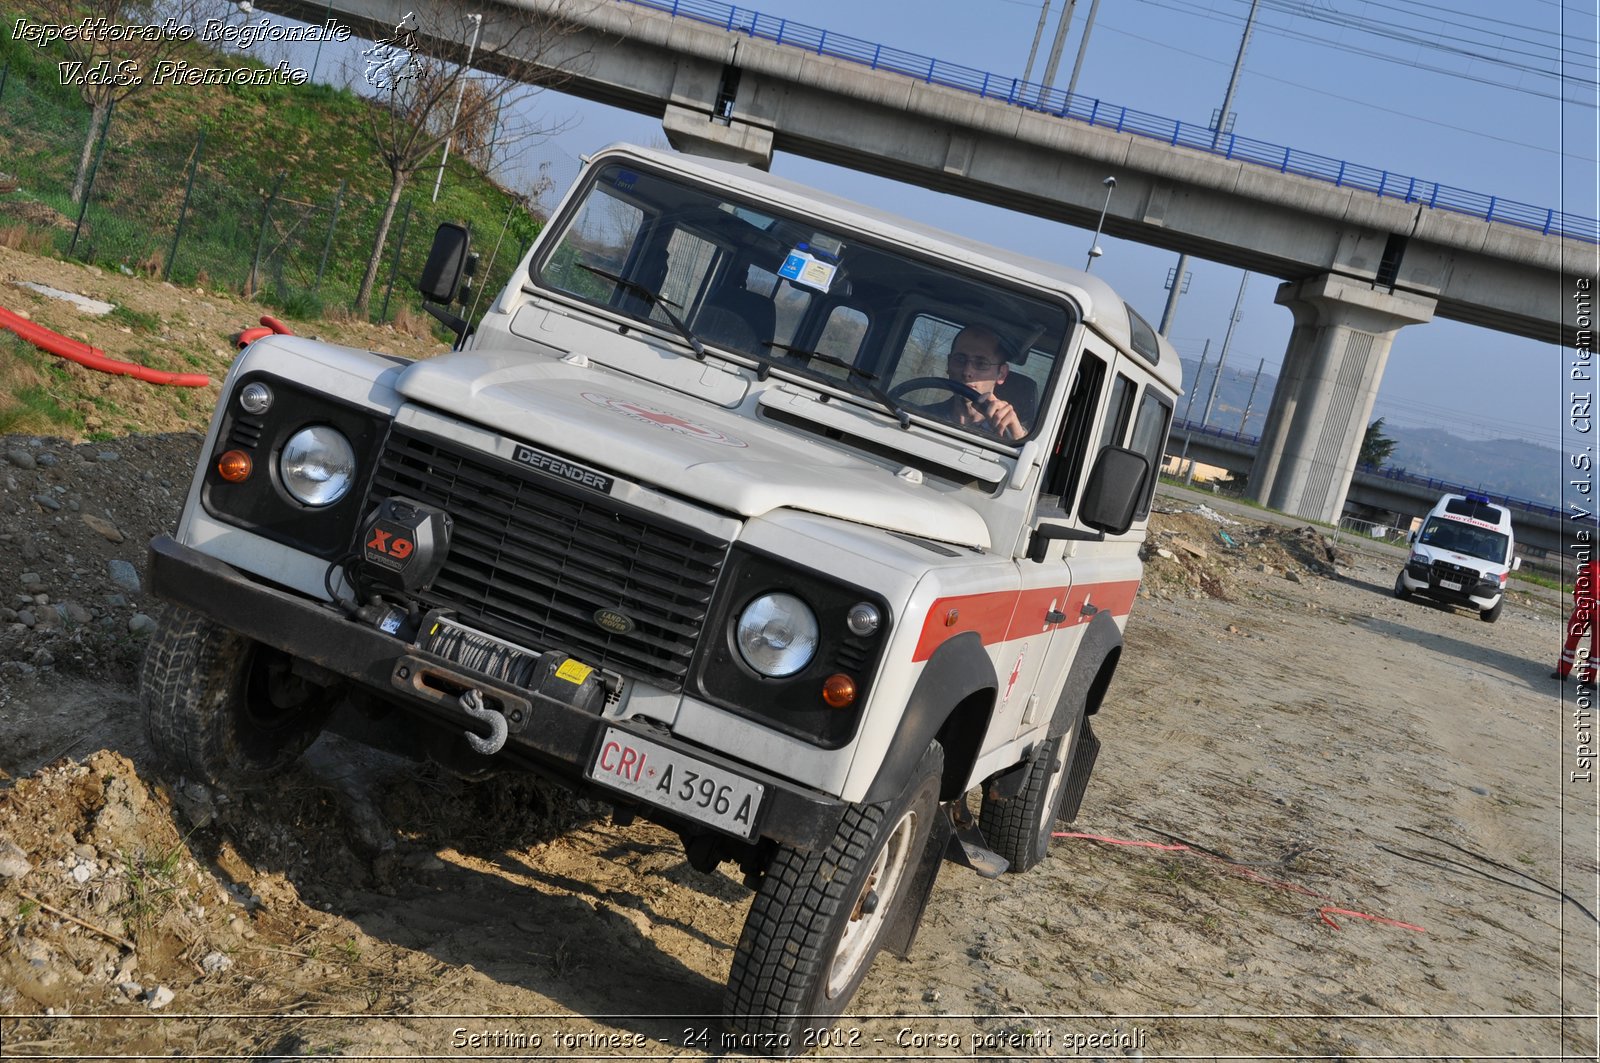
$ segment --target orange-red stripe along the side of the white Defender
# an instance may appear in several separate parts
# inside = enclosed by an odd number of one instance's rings
[[[1138,580],[1086,583],[1072,588],[1040,588],[1034,591],[989,591],[984,594],[955,594],[938,599],[922,621],[922,636],[912,652],[914,661],[926,661],[946,639],[966,631],[976,631],[984,645],[1027,639],[1051,628],[1069,628],[1088,623],[1094,613],[1083,613],[1085,602],[1094,612],[1126,616],[1139,592]],[[1064,613],[1059,624],[1045,616],[1051,607]],[[954,620],[950,613],[955,613]]]

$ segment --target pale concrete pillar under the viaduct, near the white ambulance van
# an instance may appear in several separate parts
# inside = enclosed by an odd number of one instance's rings
[[[1250,495],[1338,522],[1395,333],[1432,320],[1437,299],[1322,274],[1278,287],[1294,314],[1283,375],[1250,469]]]

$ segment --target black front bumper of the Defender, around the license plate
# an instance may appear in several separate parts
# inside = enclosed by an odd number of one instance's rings
[[[514,706],[525,711],[526,722],[507,736],[504,749],[494,754],[496,759],[538,767],[576,789],[629,805],[666,826],[715,829],[590,783],[584,772],[595,762],[608,727],[635,733],[765,786],[766,797],[755,818],[752,839],[766,837],[802,850],[821,848],[834,839],[845,813],[846,805],[837,797],[691,746],[642,720],[610,717],[603,711],[595,712],[490,679],[352,621],[326,604],[256,583],[168,535],[150,541],[149,576],[150,588],[168,602],[376,692],[406,712],[451,724],[462,732],[478,732],[482,725],[448,693],[466,688],[483,692],[485,701],[498,703],[496,708]]]

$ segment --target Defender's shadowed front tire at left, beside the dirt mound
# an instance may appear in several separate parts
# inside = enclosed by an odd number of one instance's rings
[[[338,695],[293,660],[182,608],[162,615],[139,669],[139,708],[155,756],[210,784],[259,783],[322,733]]]

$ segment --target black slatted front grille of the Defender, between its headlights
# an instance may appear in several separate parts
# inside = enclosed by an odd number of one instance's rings
[[[728,544],[482,451],[395,426],[366,512],[400,495],[454,520],[429,605],[533,650],[683,687]],[[634,621],[613,632],[597,610]]]

